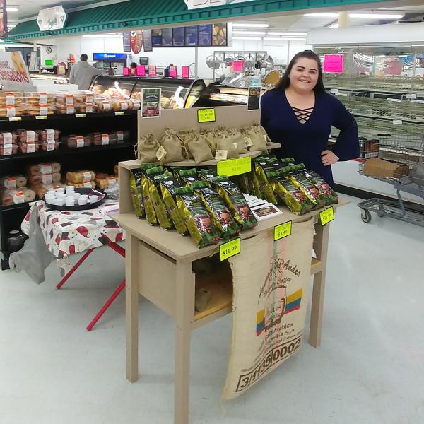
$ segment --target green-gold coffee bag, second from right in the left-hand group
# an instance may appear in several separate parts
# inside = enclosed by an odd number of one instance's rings
[[[234,218],[232,218],[225,202],[215,189],[197,189],[194,193],[200,196],[201,200],[204,202],[204,206],[206,206],[213,224],[220,230],[223,239],[234,237],[240,232],[239,225],[237,225]]]

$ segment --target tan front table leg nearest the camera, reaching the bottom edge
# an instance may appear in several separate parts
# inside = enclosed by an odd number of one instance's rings
[[[177,261],[175,303],[174,423],[189,423],[190,334],[195,280],[191,261]]]

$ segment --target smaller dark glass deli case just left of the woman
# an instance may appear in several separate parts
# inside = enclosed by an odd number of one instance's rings
[[[265,93],[262,89],[262,94]],[[212,83],[201,93],[194,107],[236,106],[247,105],[248,87],[232,87],[223,84]]]

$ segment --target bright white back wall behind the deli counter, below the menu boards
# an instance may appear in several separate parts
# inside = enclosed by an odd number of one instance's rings
[[[64,61],[73,53],[78,58],[81,53],[88,54],[91,61],[94,52],[122,53],[122,39],[112,37],[60,37],[56,40],[55,61]],[[262,40],[232,40],[231,47],[199,47],[199,77],[213,78],[213,69],[206,66],[206,57],[216,50],[249,51],[264,50],[273,58],[285,64],[300,50],[311,49],[312,46],[297,41],[262,41]],[[195,47],[157,47],[153,52],[141,52],[132,55],[132,61],[139,62],[139,56],[148,56],[149,63],[156,66],[167,66],[170,63],[180,67],[194,63]],[[130,60],[131,61],[131,60]]]

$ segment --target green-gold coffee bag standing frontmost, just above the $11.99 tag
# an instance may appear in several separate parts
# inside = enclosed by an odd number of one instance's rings
[[[177,196],[177,207],[197,247],[216,245],[219,242],[220,232],[213,225],[212,218],[199,196],[181,194]]]

